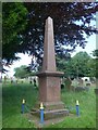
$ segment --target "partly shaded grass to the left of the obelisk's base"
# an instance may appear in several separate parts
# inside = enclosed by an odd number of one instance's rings
[[[37,101],[37,90],[32,84],[3,84],[2,87],[2,127],[3,128],[34,128],[34,123],[21,114],[22,100],[30,109]]]

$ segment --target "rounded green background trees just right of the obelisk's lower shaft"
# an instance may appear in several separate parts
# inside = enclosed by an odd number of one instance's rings
[[[87,52],[78,52],[70,60],[57,60],[58,69],[64,72],[65,77],[94,77],[96,74],[96,61]]]

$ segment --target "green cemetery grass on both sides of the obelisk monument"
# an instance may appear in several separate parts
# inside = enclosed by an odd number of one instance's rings
[[[21,113],[22,100],[26,100],[25,114]],[[61,99],[70,109],[70,116],[63,121],[50,123],[46,128],[96,128],[96,94],[95,86],[89,91],[61,91]],[[29,83],[3,83],[2,86],[2,127],[3,128],[36,128],[29,122],[27,113],[38,100],[38,89]],[[79,101],[79,116],[76,116],[75,102]]]

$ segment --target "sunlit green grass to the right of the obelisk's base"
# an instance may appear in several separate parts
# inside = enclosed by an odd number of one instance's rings
[[[76,116],[75,102],[79,101],[79,117]],[[51,128],[96,128],[96,94],[95,88],[84,92],[62,92],[62,101],[73,116],[65,117],[62,122]]]

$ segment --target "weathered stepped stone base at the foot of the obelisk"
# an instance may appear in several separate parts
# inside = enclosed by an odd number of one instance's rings
[[[38,104],[36,105],[38,106]],[[30,114],[40,118],[39,108],[33,108]],[[52,119],[58,117],[69,116],[69,110],[64,107],[62,102],[59,103],[45,103],[44,104],[44,119]]]

